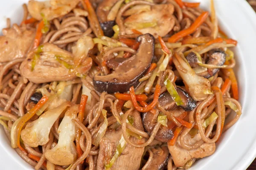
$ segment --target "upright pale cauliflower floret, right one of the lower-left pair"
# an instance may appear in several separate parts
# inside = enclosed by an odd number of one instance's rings
[[[64,115],[58,128],[59,140],[58,144],[51,150],[47,150],[45,157],[48,161],[57,165],[70,165],[76,159],[76,146],[74,144],[76,130],[73,118],[77,117],[79,105],[74,104]]]

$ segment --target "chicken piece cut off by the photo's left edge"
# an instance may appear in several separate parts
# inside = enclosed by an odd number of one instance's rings
[[[3,36],[0,36],[0,62],[25,57],[35,38],[34,29],[18,28],[17,25],[15,27],[3,29]]]

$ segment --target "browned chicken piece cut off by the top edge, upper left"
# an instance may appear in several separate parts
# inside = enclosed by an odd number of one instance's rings
[[[68,14],[78,3],[79,0],[47,0],[43,2],[30,0],[28,10],[29,14],[37,20],[42,20],[43,16],[47,20],[53,20]]]

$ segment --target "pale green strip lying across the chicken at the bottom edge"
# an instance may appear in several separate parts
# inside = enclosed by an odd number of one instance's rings
[[[116,147],[116,152],[114,154],[114,156],[111,158],[109,164],[106,164],[105,165],[105,169],[106,170],[110,170],[110,168],[112,167],[112,165],[115,163],[116,159],[122,154],[122,152],[125,150],[125,147],[126,147],[126,141],[125,141],[125,138],[121,137],[121,139],[119,140],[119,143]]]

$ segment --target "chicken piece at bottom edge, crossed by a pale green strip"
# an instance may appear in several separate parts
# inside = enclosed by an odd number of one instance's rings
[[[134,110],[131,113],[134,123],[133,126],[137,129],[144,130],[140,113]],[[97,161],[97,170],[105,170],[105,165],[109,163],[112,156],[116,152],[117,144],[122,136],[122,130],[107,130],[105,136],[99,143],[99,157]],[[137,139],[130,136],[131,142],[142,144],[145,138]],[[134,147],[126,144],[122,154],[113,163],[111,170],[138,170],[140,168],[140,161],[143,156],[144,147]]]

